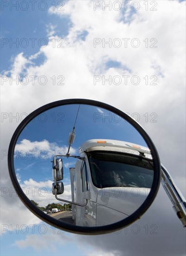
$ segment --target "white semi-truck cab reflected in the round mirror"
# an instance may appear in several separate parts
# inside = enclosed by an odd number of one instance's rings
[[[147,198],[154,177],[151,152],[125,141],[85,141],[70,177],[76,225],[118,222]]]

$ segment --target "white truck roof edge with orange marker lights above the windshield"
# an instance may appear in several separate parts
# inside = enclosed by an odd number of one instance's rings
[[[151,151],[147,147],[127,141],[109,139],[93,139],[85,141],[79,148],[79,154],[94,150],[115,151],[134,155],[142,155],[148,159],[152,159]]]

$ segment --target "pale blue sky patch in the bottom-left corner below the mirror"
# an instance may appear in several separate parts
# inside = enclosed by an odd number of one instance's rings
[[[25,228],[24,228],[25,227]],[[40,225],[22,225],[19,226],[17,230],[15,230],[16,225],[12,225],[10,231],[5,233],[3,236],[1,236],[1,255],[15,255],[15,256],[49,256],[53,253],[58,253],[58,251],[61,251],[63,254],[65,252],[65,255],[84,255],[82,253],[82,249],[78,249],[78,247],[71,247],[71,241],[68,241],[68,233],[67,236],[64,237],[64,231],[56,229],[54,227],[51,227],[50,225],[46,224],[45,222],[41,222]],[[36,239],[38,239],[38,245],[35,248],[35,250],[28,246],[26,248],[17,249],[16,241],[25,240],[28,236],[34,236]],[[45,244],[40,243],[39,244],[39,236],[42,236],[46,241],[48,241],[48,236],[51,236],[52,240],[56,240],[55,247],[52,246],[47,247]],[[38,237],[37,237],[38,236]],[[33,238],[32,238],[33,239]],[[64,242],[60,243],[60,240]],[[48,242],[46,242],[48,243]],[[71,247],[71,248],[70,248]]]

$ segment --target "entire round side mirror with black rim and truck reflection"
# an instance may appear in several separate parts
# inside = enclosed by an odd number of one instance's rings
[[[28,115],[8,150],[13,186],[51,226],[77,234],[122,229],[150,207],[160,159],[144,129],[98,101],[55,101]]]

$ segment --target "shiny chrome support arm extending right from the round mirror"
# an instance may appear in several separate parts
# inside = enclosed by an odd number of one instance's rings
[[[186,227],[186,200],[173,182],[171,175],[167,169],[161,165],[161,184],[165,189],[170,201],[173,204],[173,209],[176,212],[183,227]]]

